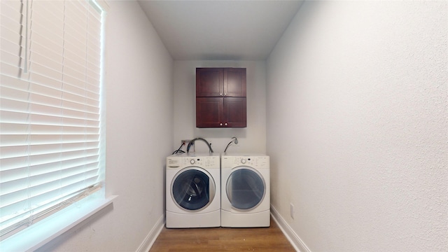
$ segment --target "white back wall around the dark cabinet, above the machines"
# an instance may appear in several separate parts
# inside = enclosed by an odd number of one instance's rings
[[[196,127],[196,68],[243,67],[246,68],[247,127],[246,128],[197,128]],[[174,138],[179,148],[182,139],[202,137],[211,143],[214,152],[221,153],[237,137],[228,153],[266,153],[266,71],[262,61],[176,61],[174,62]],[[186,148],[183,148],[186,151]],[[174,150],[173,150],[174,151]],[[190,151],[193,151],[190,149]],[[203,141],[196,141],[196,152],[208,152]]]

